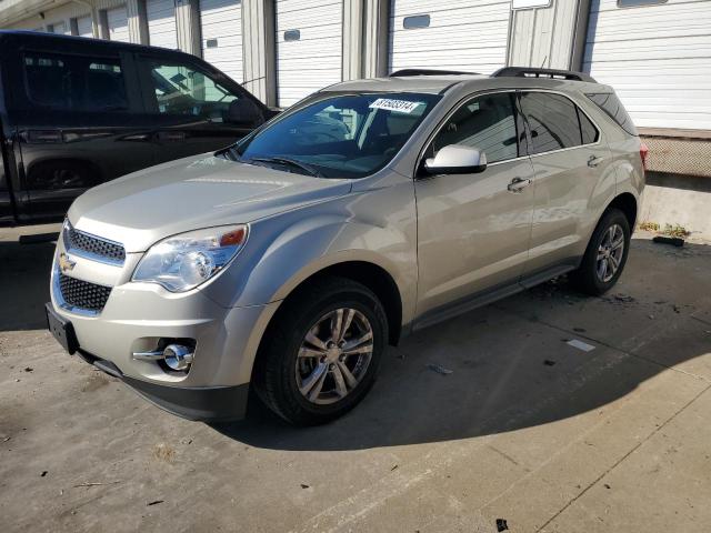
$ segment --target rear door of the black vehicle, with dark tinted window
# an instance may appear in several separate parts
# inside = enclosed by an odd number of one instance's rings
[[[59,41],[58,41],[59,42]],[[62,217],[90,187],[156,162],[131,53],[21,50],[12,122],[32,219]]]

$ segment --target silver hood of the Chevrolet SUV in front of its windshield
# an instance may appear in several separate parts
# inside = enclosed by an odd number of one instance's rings
[[[144,252],[202,228],[252,222],[347,194],[350,180],[281,172],[200,155],[134,172],[90,189],[69,210],[78,230]]]

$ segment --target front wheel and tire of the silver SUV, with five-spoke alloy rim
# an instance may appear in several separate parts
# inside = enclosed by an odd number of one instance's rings
[[[338,342],[333,323],[339,310],[342,324],[349,324],[347,330],[341,329],[341,348],[329,343]],[[375,380],[387,339],[385,312],[372,291],[344,278],[317,280],[289,296],[267,329],[254,371],[256,392],[291,424],[330,422],[365,396]],[[349,350],[362,353],[347,354]],[[318,375],[322,379],[317,380]]]

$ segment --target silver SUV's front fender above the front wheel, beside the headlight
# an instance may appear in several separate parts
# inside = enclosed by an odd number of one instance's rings
[[[329,205],[252,223],[244,250],[216,280],[219,282],[206,289],[207,295],[227,308],[261,305],[286,299],[326,268],[363,261],[392,276],[402,300],[403,322],[411,320],[417,294],[414,202],[407,205],[400,193],[400,201],[391,199],[389,210],[378,209],[378,204],[388,203],[383,195],[390,194],[382,189],[351,194]],[[403,215],[405,210],[411,210],[411,217]],[[353,214],[361,211],[362,215]]]

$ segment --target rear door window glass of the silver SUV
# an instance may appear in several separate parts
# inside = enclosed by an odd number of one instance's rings
[[[524,92],[521,109],[531,129],[531,153],[551,152],[582,144],[578,109],[560,94]]]

